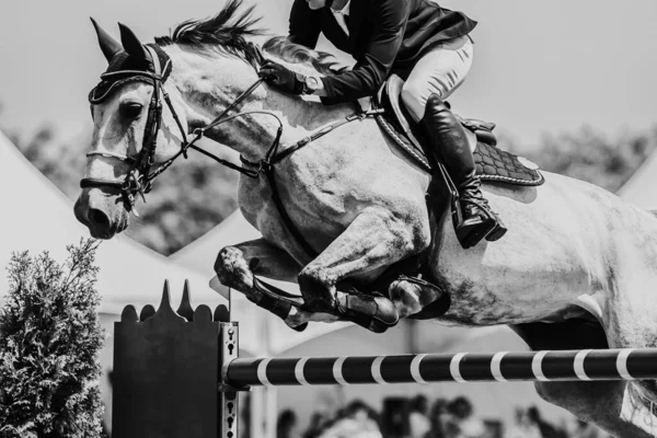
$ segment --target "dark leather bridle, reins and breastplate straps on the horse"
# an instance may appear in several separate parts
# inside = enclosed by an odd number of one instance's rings
[[[173,162],[176,159],[178,159],[181,155],[183,155],[186,159],[187,151],[189,149],[193,149],[197,152],[203,153],[206,157],[214,159],[218,163],[220,163],[229,169],[240,172],[241,174],[243,174],[247,177],[257,178],[257,177],[260,177],[261,174],[264,173],[265,176],[267,177],[267,181],[268,181],[270,187],[272,187],[272,198],[274,200],[274,204],[276,205],[276,208],[277,208],[283,221],[285,222],[287,229],[290,231],[290,233],[297,240],[297,242],[301,245],[301,247],[303,247],[303,250],[308,253],[308,255],[311,257],[315,257],[318,255],[318,252],[314,251],[314,249],[303,238],[303,235],[301,234],[299,229],[295,226],[295,223],[290,219],[290,217],[285,208],[285,205],[283,204],[283,200],[280,199],[280,195],[278,193],[278,188],[277,188],[277,184],[276,184],[274,166],[275,166],[275,164],[279,163],[281,160],[289,157],[290,154],[298,151],[299,149],[303,148],[304,146],[309,145],[310,142],[331,132],[333,129],[338,128],[342,125],[348,124],[354,120],[362,120],[366,117],[376,116],[378,114],[381,114],[383,112],[383,110],[378,108],[378,110],[362,111],[361,108],[358,108],[358,111],[356,111],[354,114],[350,114],[350,115],[344,117],[343,119],[332,122],[332,123],[323,126],[322,128],[318,129],[315,132],[311,134],[310,136],[307,136],[307,137],[300,139],[299,141],[295,142],[293,145],[290,145],[290,146],[279,150],[280,136],[283,135],[283,122],[275,114],[273,114],[270,112],[266,112],[266,111],[250,111],[250,112],[243,112],[243,113],[238,113],[238,114],[227,116],[228,113],[230,113],[240,103],[242,103],[249,95],[251,95],[264,82],[264,79],[261,78],[257,81],[255,81],[249,89],[246,89],[246,91],[244,91],[242,94],[240,94],[230,105],[228,105],[210,123],[208,123],[204,127],[194,129],[194,131],[192,132],[194,135],[194,137],[191,140],[188,140],[185,129],[183,128],[183,125],[180,120],[180,117],[178,117],[177,113],[175,112],[173,104],[171,103],[171,99],[169,97],[169,94],[164,90],[163,84],[164,84],[165,79],[163,79],[163,77],[162,77],[162,67],[160,66],[159,58],[152,47],[149,47],[149,46],[145,46],[145,47],[150,51],[151,57],[153,59],[153,66],[154,66],[154,70],[155,70],[154,72],[143,71],[143,70],[120,70],[120,71],[114,71],[114,72],[101,74],[102,80],[113,80],[115,78],[147,77],[152,81],[153,94],[151,96],[151,101],[149,104],[141,150],[139,151],[139,153],[137,154],[136,158],[119,154],[119,153],[114,153],[114,152],[110,152],[110,151],[90,151],[90,152],[88,152],[87,157],[102,155],[102,157],[114,158],[114,159],[124,161],[130,165],[130,170],[128,171],[128,173],[126,174],[126,176],[123,181],[84,177],[84,178],[80,180],[80,187],[81,188],[91,188],[91,187],[115,187],[115,188],[118,188],[120,191],[122,196],[124,197],[125,203],[126,203],[126,209],[128,211],[132,211],[135,214],[135,216],[139,216],[137,214],[137,210],[135,209],[135,204],[136,204],[135,196],[137,194],[139,194],[141,196],[141,198],[143,199],[143,201],[146,203],[146,194],[152,189],[152,182],[160,174],[162,174],[166,169],[169,169],[169,166],[171,166],[171,164],[173,164]],[[151,171],[151,168],[154,164],[154,155],[155,155],[155,150],[158,147],[158,134],[159,134],[161,125],[162,125],[162,107],[163,107],[162,100],[164,100],[164,103],[171,111],[171,114],[173,115],[173,118],[178,127],[180,132],[181,132],[181,136],[182,136],[181,150],[178,152],[176,152],[172,158],[170,158],[169,160],[166,160],[165,162],[160,164],[157,169]],[[231,163],[230,161],[223,160],[223,159],[215,155],[214,153],[208,152],[205,149],[195,145],[198,140],[200,140],[204,137],[205,132],[208,131],[209,129],[212,129],[222,123],[232,120],[238,117],[243,117],[243,116],[250,115],[250,114],[268,115],[268,116],[275,117],[276,120],[278,122],[278,129],[277,129],[276,136],[274,137],[274,140],[272,142],[272,146],[269,146],[269,148],[267,149],[267,152],[265,153],[265,157],[263,159],[261,159],[260,161],[251,162],[240,155],[240,160],[242,161],[243,164],[246,165],[246,168],[244,168],[244,166]]]

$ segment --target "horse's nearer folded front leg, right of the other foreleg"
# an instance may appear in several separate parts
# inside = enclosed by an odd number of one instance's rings
[[[383,332],[400,318],[416,313],[426,302],[435,300],[438,291],[430,291],[431,297],[427,298],[405,293],[410,288],[404,287],[394,288],[401,292],[394,300],[383,295],[354,293],[351,287],[338,290],[343,280],[372,280],[395,262],[425,250],[430,243],[430,227],[424,218],[426,215],[412,215],[408,210],[400,214],[379,207],[360,212],[299,274],[306,308],[344,315],[370,331]]]

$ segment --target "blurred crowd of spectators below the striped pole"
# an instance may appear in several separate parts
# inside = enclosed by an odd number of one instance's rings
[[[292,410],[278,416],[276,438],[610,438],[596,426],[574,420],[555,425],[538,407],[518,408],[514,424],[482,418],[472,402],[458,396],[389,397],[377,412],[355,400],[333,416],[315,413],[306,429]]]

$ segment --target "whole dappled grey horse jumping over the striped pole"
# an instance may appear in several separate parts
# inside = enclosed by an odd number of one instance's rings
[[[431,284],[389,284],[401,318],[420,314],[440,295],[450,306],[434,321],[507,324],[532,349],[657,346],[653,214],[549,172],[538,187],[485,183],[509,231],[463,250],[449,215],[431,227],[429,174],[372,117],[260,80],[263,56],[314,74],[330,73],[328,61],[281,39],[258,46],[256,20],[240,3],[230,0],[216,16],[187,21],[150,45],[120,24],[119,43],[94,22],[110,68],[90,95],[94,132],[74,205],[93,237],[125,230],[152,178],[208,137],[243,158],[243,166],[227,165],[243,173],[239,206],[262,233],[221,249],[217,278],[291,327],[349,318],[337,309],[354,297],[344,281],[374,284],[425,252]],[[304,306],[276,301],[256,276],[297,283]],[[355,302],[367,308],[372,298]],[[535,389],[615,436],[657,436],[654,381],[539,381]]]

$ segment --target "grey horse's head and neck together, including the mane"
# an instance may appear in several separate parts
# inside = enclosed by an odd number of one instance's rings
[[[262,83],[257,69],[265,56],[306,74],[327,73],[333,62],[284,37],[256,46],[249,37],[261,33],[258,20],[253,8],[240,12],[241,4],[230,0],[217,15],[186,21],[148,45],[125,25],[119,43],[93,22],[110,66],[90,93],[93,141],[74,207],[93,237],[110,239],[126,229],[151,176],[200,137],[257,162],[274,141],[296,141],[353,112]]]

